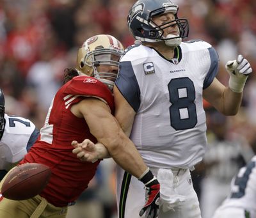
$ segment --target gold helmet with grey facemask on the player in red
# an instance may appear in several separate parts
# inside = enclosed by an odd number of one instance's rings
[[[119,73],[119,60],[124,47],[115,37],[97,35],[83,43],[77,54],[76,70],[79,75],[99,79],[113,90]],[[111,67],[115,66],[115,67]]]

